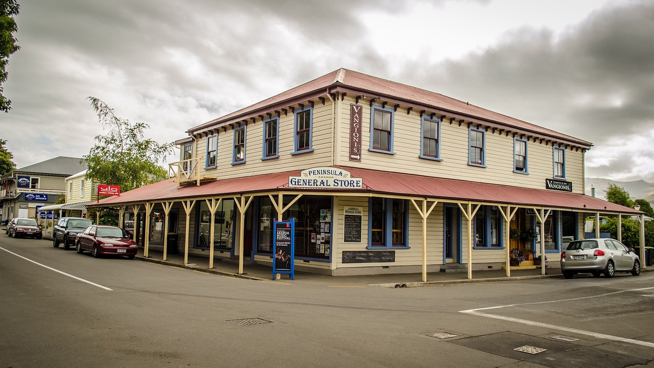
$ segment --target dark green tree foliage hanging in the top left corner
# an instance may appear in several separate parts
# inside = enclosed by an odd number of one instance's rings
[[[0,0],[0,110],[9,113],[11,109],[11,100],[3,95],[2,84],[7,81],[7,63],[9,56],[18,51],[20,46],[16,45],[14,32],[18,31],[16,21],[13,16],[18,14],[20,5],[16,0]]]

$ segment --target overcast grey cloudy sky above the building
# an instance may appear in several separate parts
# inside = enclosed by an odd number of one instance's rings
[[[587,177],[654,182],[651,0],[18,2],[0,138],[19,168],[88,153],[88,96],[163,143],[345,67],[591,141]]]

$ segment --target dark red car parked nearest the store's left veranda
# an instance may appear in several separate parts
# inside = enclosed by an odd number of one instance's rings
[[[115,226],[91,225],[77,235],[75,241],[77,253],[85,250],[98,258],[101,255],[126,255],[129,259],[136,257],[136,243],[129,238],[128,233]]]

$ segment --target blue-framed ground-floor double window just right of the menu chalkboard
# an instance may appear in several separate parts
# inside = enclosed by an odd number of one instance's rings
[[[368,248],[409,248],[409,201],[371,197]]]

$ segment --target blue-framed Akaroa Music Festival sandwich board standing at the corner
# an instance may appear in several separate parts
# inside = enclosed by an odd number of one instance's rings
[[[274,220],[273,220],[274,221]],[[277,274],[289,274],[294,280],[295,272],[295,219],[273,222],[273,280]]]

